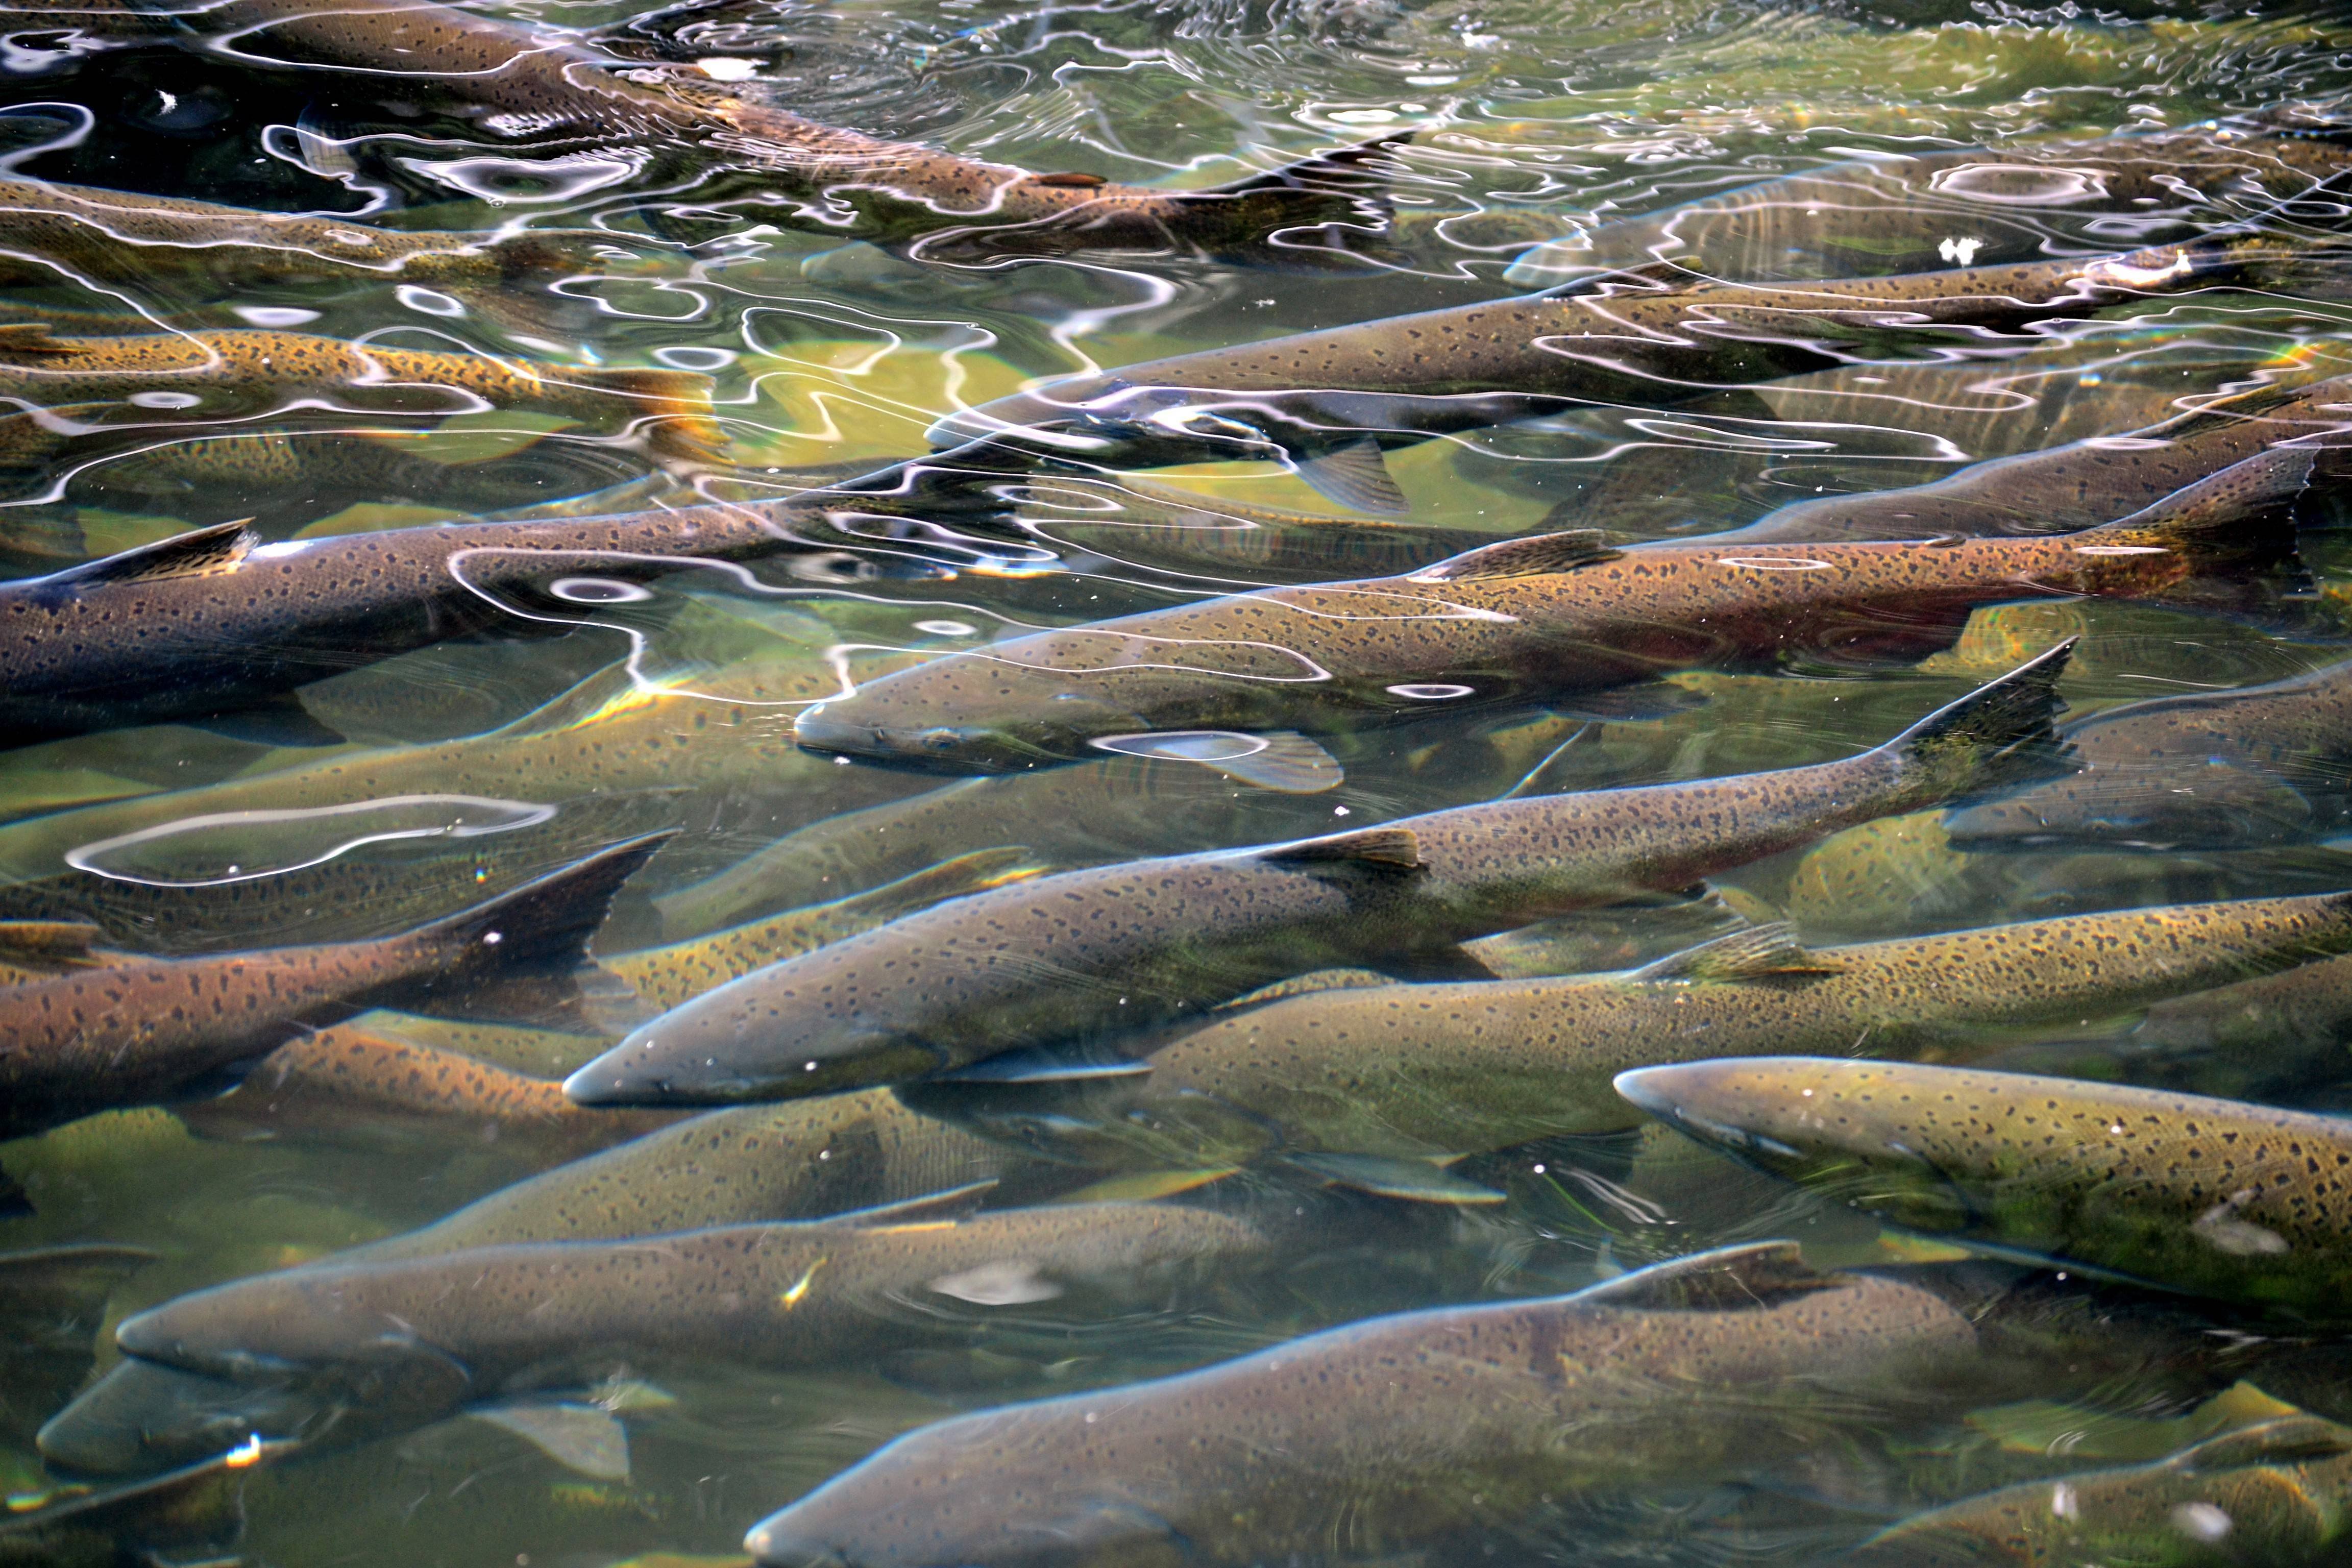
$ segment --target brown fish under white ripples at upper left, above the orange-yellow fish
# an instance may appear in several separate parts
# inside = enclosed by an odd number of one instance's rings
[[[353,270],[402,282],[499,284],[579,266],[604,235],[515,230],[503,235],[374,228],[221,207],[176,195],[139,195],[40,179],[0,179],[0,237],[96,282],[148,284],[162,270],[202,268],[223,252],[245,282],[339,277]],[[9,275],[56,282],[59,273],[0,256]]]

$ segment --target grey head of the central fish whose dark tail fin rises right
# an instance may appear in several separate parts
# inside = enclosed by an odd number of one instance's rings
[[[809,954],[816,957],[816,954]],[[781,966],[776,966],[781,969]],[[757,971],[746,980],[760,980]],[[858,1018],[769,1013],[741,980],[633,1030],[569,1079],[574,1105],[741,1105],[804,1100],[920,1079],[948,1053]]]

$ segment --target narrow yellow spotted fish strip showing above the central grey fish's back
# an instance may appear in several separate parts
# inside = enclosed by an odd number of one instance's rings
[[[1035,877],[1040,867],[1023,860],[1025,851],[1018,846],[976,849],[868,893],[786,910],[663,947],[619,952],[597,959],[597,966],[628,985],[652,1013],[663,1013],[755,969],[873,931],[898,914]]]

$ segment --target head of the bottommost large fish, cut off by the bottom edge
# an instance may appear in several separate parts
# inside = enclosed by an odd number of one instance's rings
[[[743,1537],[762,1568],[1181,1568],[1150,1486],[1089,1465],[1065,1401],[901,1436]]]

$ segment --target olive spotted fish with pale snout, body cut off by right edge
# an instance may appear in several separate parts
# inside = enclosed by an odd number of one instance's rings
[[[1651,1117],[1929,1234],[2343,1321],[2352,1126],[2025,1072],[1764,1056],[1618,1074]]]

